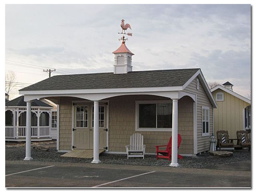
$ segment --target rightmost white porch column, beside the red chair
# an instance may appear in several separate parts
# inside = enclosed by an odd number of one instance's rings
[[[172,99],[172,163],[178,167],[178,99]]]

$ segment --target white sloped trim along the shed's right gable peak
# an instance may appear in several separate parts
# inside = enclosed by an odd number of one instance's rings
[[[198,69],[198,71],[182,86],[182,89],[185,89],[186,86],[188,86],[197,76],[198,76],[200,82],[202,83],[202,86],[203,86],[210,102],[212,103],[212,106],[214,108],[217,108],[217,103],[216,103],[214,97],[212,96],[212,92],[210,91],[208,84],[206,83],[206,80],[204,78],[204,75],[202,74],[202,71],[200,69]]]

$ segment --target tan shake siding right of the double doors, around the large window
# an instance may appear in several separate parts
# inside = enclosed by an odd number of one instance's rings
[[[144,135],[146,153],[156,153],[156,145],[166,145],[172,132],[135,131],[136,100],[168,100],[157,96],[119,96],[109,103],[109,150],[125,151],[130,135]],[[178,102],[178,133],[182,137],[179,153],[193,153],[193,102],[184,97]]]

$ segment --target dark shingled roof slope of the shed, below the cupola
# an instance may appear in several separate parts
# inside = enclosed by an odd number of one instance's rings
[[[200,69],[132,71],[126,74],[104,72],[57,75],[32,84],[21,90],[71,90],[182,86],[198,70]]]

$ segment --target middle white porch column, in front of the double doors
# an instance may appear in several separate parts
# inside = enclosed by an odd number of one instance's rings
[[[99,102],[94,101],[94,129],[93,129],[93,161],[100,163],[99,159]]]

